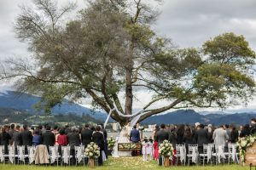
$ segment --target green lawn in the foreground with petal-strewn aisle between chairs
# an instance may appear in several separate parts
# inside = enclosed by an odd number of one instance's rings
[[[104,166],[96,167],[95,169],[113,169],[113,170],[157,170],[157,169],[172,169],[172,170],[213,170],[213,169],[221,169],[221,170],[248,170],[249,167],[241,167],[240,165],[220,165],[220,166],[177,166],[177,167],[159,167],[156,161],[142,161],[142,157],[131,157],[131,158],[109,158],[108,161],[104,162]],[[65,170],[84,170],[90,169],[89,167],[56,167],[56,166],[27,166],[27,165],[10,165],[10,164],[0,164],[0,170],[58,170],[58,169],[65,169]]]

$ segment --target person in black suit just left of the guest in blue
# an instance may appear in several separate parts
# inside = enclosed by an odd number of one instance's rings
[[[26,125],[23,125],[23,131],[20,133],[20,145],[25,146],[25,154],[27,154],[27,146],[32,145],[32,133],[27,129]]]

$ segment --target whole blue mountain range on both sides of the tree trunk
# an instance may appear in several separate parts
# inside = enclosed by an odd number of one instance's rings
[[[26,111],[26,113],[39,115],[40,113],[33,108],[33,105],[38,103],[38,101],[40,101],[40,97],[31,94],[23,94],[15,91],[5,91],[4,93],[0,93],[0,108],[15,109],[15,111]],[[52,113],[54,115],[75,114],[77,116],[82,116],[85,114],[102,122],[104,122],[107,118],[107,114],[101,111],[91,111],[89,108],[69,102],[67,100],[62,102],[61,105],[57,105],[52,108]],[[231,123],[247,124],[253,117],[256,117],[256,111],[224,114],[224,112],[196,112],[194,110],[177,110],[166,114],[150,116],[144,120],[143,123],[194,124],[195,122],[201,122],[206,124],[211,123],[214,125]]]

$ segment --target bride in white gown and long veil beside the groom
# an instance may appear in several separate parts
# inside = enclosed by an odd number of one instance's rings
[[[118,144],[120,143],[131,143],[129,139],[129,126],[123,127],[122,131],[119,133],[116,143],[113,146],[112,156],[113,157],[129,157],[131,156],[130,150],[118,150]]]

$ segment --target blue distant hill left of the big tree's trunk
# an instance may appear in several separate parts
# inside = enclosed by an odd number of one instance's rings
[[[35,111],[33,105],[40,101],[40,97],[34,96],[31,94],[18,93],[15,91],[6,91],[0,93],[0,107],[2,108],[11,108],[15,110],[27,111],[33,114],[39,114],[38,111]],[[68,114],[73,113],[81,116],[84,114],[89,114],[96,119],[105,120],[107,114],[104,114],[100,111],[91,111],[90,109],[83,107],[81,105],[64,101],[61,105],[56,105],[52,108],[53,114]]]

